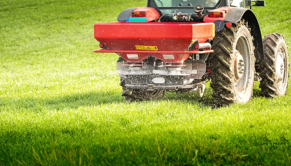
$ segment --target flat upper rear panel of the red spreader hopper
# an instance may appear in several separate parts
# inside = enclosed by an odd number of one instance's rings
[[[192,24],[101,23],[94,26],[95,39],[192,39]],[[105,43],[104,43],[105,44]]]

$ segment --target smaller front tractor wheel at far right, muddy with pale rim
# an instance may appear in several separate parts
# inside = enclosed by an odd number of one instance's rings
[[[263,39],[264,60],[260,63],[259,87],[265,97],[279,97],[287,93],[289,77],[289,55],[286,40],[278,33]]]

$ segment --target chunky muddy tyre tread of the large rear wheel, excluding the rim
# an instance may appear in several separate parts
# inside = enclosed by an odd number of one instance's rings
[[[234,89],[234,71],[233,71],[233,43],[236,40],[236,33],[240,28],[242,31],[247,30],[247,24],[244,21],[233,24],[230,28],[224,28],[217,32],[213,39],[216,45],[213,45],[214,54],[209,58],[211,83],[213,90],[212,97],[217,106],[227,106],[231,103],[239,102]],[[249,32],[250,33],[250,32]],[[250,38],[248,38],[250,39]],[[253,47],[252,47],[253,48]],[[252,51],[252,59],[254,54]],[[255,63],[255,62],[254,62]],[[254,69],[254,66],[253,66]],[[252,85],[251,85],[252,86]],[[252,90],[251,90],[252,96]],[[249,98],[250,99],[250,98]]]

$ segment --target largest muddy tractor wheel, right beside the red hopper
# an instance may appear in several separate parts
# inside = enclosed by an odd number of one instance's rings
[[[255,56],[247,23],[224,28],[213,39],[210,86],[217,106],[245,103],[253,95]]]

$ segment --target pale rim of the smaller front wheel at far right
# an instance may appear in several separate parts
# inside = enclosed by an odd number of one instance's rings
[[[277,57],[276,57],[276,84],[279,91],[284,91],[287,77],[287,69],[286,69],[286,52],[285,49],[281,46],[278,49]]]

